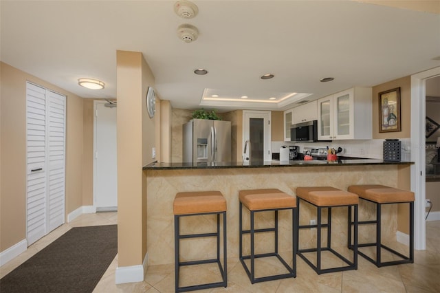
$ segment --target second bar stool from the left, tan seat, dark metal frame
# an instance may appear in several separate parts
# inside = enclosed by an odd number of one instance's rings
[[[245,269],[250,282],[259,283],[264,281],[272,281],[296,277],[296,202],[295,197],[283,193],[278,189],[254,189],[239,191],[240,199],[240,262]],[[250,230],[243,230],[243,205],[250,211]],[[292,267],[278,254],[278,210],[292,210]],[[274,228],[255,229],[254,215],[255,213],[274,211],[275,223]],[[255,254],[255,234],[261,232],[274,232],[274,252]],[[243,234],[250,234],[250,254],[243,256]],[[255,259],[263,257],[276,257],[287,269],[286,273],[275,274],[271,276],[255,277]],[[250,259],[250,268],[245,263],[245,259]]]

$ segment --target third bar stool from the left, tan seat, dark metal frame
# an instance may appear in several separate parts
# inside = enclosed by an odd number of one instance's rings
[[[298,224],[298,237],[299,241],[299,230],[305,228],[317,228],[316,236],[316,248],[299,249],[298,255],[315,270],[317,274],[325,274],[327,272],[340,272],[344,270],[357,270],[358,269],[358,204],[359,197],[354,193],[349,193],[347,191],[341,191],[338,188],[321,186],[321,187],[298,187],[296,188],[296,206],[298,208],[298,213],[296,215],[296,221],[299,223],[300,219],[300,199],[316,206],[317,208],[317,221],[316,225],[299,225]],[[335,207],[347,206],[348,207],[348,228],[351,230],[351,207],[354,207],[354,243],[353,243],[353,261],[345,258],[339,252],[336,252],[331,248],[331,209]],[[327,208],[327,224],[322,224],[322,209]],[[321,229],[327,228],[327,246],[322,247],[321,244]],[[350,234],[349,234],[350,235]],[[351,236],[349,236],[351,237]],[[350,238],[349,238],[350,242]],[[322,269],[321,253],[323,251],[329,251],[333,253],[336,257],[347,263],[340,267],[326,268]],[[316,265],[309,261],[305,256],[307,252],[316,252]]]

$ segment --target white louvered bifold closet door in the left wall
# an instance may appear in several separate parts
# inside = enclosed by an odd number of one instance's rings
[[[64,223],[65,96],[27,83],[28,246]]]

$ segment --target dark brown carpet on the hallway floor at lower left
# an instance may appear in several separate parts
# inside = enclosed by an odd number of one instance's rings
[[[116,225],[72,228],[0,279],[0,292],[92,292],[117,252]]]

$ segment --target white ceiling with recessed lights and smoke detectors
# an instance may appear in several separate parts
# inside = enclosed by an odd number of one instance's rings
[[[202,107],[209,89],[227,98],[297,92],[311,100],[440,66],[440,14],[358,1],[192,2],[199,15],[185,20],[166,0],[2,0],[1,61],[84,98],[117,98],[116,51],[142,52],[157,94],[182,109]],[[182,23],[198,28],[197,41],[177,38]],[[209,73],[197,76],[197,68]],[[275,77],[261,80],[267,73]],[[329,76],[335,80],[320,83]],[[78,78],[98,78],[106,87],[84,89]],[[203,107],[294,105],[240,102]]]

